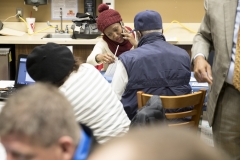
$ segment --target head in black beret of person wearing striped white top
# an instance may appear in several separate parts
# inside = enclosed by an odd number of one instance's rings
[[[48,82],[61,86],[73,71],[77,71],[77,61],[70,49],[56,43],[35,47],[27,57],[26,68],[37,82]]]

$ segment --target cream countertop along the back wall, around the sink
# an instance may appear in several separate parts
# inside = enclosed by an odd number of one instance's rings
[[[65,26],[66,24],[64,24]],[[71,24],[67,24],[71,26]],[[132,23],[126,23],[126,26],[133,28]],[[199,23],[183,23],[182,25],[190,28],[191,30],[197,32],[199,28]],[[46,23],[36,23],[35,31],[46,28]],[[22,22],[5,22],[4,27],[15,29],[18,31],[26,32],[26,27]],[[184,27],[177,23],[163,23],[163,28],[167,30],[164,31],[166,40],[169,43],[176,45],[192,45],[193,37],[196,33],[190,32]],[[55,42],[59,44],[72,44],[72,45],[94,45],[98,42],[99,38],[96,39],[61,39],[61,38],[44,38],[42,37],[48,33],[54,33],[54,28],[50,28],[43,32],[39,32],[34,35],[28,35],[25,33],[23,36],[0,36],[0,44],[46,44],[48,42]]]

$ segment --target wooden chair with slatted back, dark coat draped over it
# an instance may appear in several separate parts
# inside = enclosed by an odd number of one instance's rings
[[[177,113],[165,113],[167,119],[176,119],[192,116],[189,122],[168,124],[170,127],[186,126],[198,128],[200,116],[202,114],[202,107],[206,89],[200,89],[198,92],[181,95],[181,96],[160,96],[163,107],[165,109],[178,109],[189,106],[194,106],[193,110]],[[138,108],[142,108],[146,102],[151,98],[151,94],[145,94],[143,91],[137,92]]]

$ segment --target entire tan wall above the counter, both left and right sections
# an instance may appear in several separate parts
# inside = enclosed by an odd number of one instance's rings
[[[51,20],[51,1],[34,11],[32,6],[24,5],[23,0],[0,0],[0,20],[16,14],[16,8],[23,8],[24,18],[29,17],[32,11],[37,22]],[[96,0],[99,5],[102,0]],[[78,0],[79,12],[83,13],[84,0]],[[182,23],[200,23],[204,14],[203,0],[115,0],[115,9],[122,15],[125,23],[132,23],[134,16],[143,10],[151,9],[158,11],[164,23],[178,20]],[[11,18],[8,22],[16,22]]]

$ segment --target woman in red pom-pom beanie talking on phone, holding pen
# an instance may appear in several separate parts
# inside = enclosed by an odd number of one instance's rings
[[[137,47],[132,29],[123,26],[121,15],[106,4],[98,6],[97,27],[103,33],[94,46],[92,53],[87,58],[87,63],[94,66],[102,64],[106,70],[108,64],[115,61],[114,54],[118,57],[125,51]],[[117,49],[118,48],[118,49]]]

